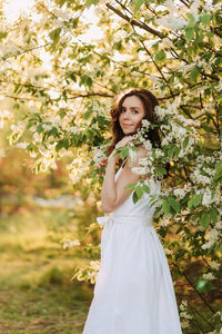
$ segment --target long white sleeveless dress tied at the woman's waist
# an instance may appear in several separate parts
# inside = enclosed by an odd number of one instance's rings
[[[122,167],[115,174],[120,175]],[[151,194],[160,191],[153,183]],[[164,249],[152,226],[154,206],[132,194],[111,215],[98,217],[101,266],[83,334],[181,334]]]

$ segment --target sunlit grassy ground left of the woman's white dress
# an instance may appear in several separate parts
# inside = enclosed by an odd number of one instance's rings
[[[60,240],[74,238],[68,210],[4,204],[0,223],[0,333],[80,334],[92,297],[85,283],[71,282],[82,258]]]

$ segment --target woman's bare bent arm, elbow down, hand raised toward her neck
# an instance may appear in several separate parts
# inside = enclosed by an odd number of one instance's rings
[[[143,146],[138,147],[137,159],[133,163],[133,167],[139,166],[140,158],[147,157],[147,149]],[[115,176],[115,163],[117,158],[112,155],[108,159],[108,166],[105,169],[104,181],[102,185],[102,210],[105,214],[110,214],[115,210],[130,195],[131,189],[124,189],[124,187],[131,183],[137,183],[140,178],[140,175],[134,174],[131,170],[129,160],[127,161],[123,170],[118,177],[117,181]]]

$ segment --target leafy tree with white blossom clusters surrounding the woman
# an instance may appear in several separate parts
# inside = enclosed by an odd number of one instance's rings
[[[92,6],[102,36],[87,41],[84,13]],[[1,91],[22,111],[10,143],[34,158],[36,171],[57,168],[57,159],[68,156],[71,181],[90,196],[102,185],[113,97],[149,88],[160,102],[162,141],[153,148],[143,134],[135,136],[148,157],[134,173],[149,179],[131,185],[133,199],[150,191],[152,179],[162,179],[161,194],[153,196],[154,220],[172,273],[185,285],[184,291],[175,286],[178,295],[189,295],[180,297],[182,326],[206,333],[204,323],[209,333],[219,333],[220,312],[209,295],[215,293],[222,253],[221,1],[54,0],[37,1],[34,11],[13,24],[1,18]],[[10,117],[2,110],[2,122]],[[151,125],[143,126],[145,131]],[[129,145],[120,155],[133,160],[134,151]],[[171,165],[168,178],[165,163]],[[75,277],[94,282],[94,254]],[[194,307],[193,294],[208,315],[199,303]]]

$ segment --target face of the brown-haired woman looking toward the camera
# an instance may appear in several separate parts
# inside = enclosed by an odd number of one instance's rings
[[[123,134],[125,136],[135,134],[144,116],[145,110],[141,99],[135,95],[127,97],[119,116],[119,124]]]

